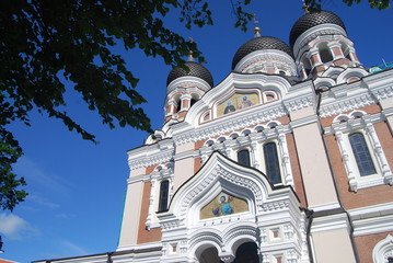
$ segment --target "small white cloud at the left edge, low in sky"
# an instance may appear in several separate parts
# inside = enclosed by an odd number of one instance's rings
[[[0,232],[9,239],[24,239],[36,236],[39,231],[23,218],[3,213],[0,214]]]

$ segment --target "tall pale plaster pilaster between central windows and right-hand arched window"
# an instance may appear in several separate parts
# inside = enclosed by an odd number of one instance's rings
[[[317,210],[323,206],[338,205],[317,124],[297,127],[293,135],[309,207]]]

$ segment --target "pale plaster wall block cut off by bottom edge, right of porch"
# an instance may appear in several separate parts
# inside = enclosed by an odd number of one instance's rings
[[[347,229],[312,233],[317,263],[356,262]]]

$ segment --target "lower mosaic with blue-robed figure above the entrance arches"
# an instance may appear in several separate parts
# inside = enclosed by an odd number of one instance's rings
[[[199,216],[200,219],[207,219],[247,210],[248,204],[245,199],[221,192],[209,204],[200,209]]]

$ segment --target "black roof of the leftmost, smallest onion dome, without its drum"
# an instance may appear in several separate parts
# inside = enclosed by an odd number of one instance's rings
[[[181,77],[192,76],[205,80],[210,87],[212,87],[212,77],[207,68],[194,61],[187,61],[185,65],[189,68],[189,71],[187,72],[185,69],[178,67],[172,69],[167,76],[166,85]]]

